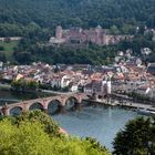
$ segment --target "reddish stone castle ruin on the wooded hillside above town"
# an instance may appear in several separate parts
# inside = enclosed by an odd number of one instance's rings
[[[63,30],[61,25],[56,27],[55,37],[50,39],[50,44],[86,44],[92,42],[97,45],[108,45],[118,43],[121,40],[132,39],[132,35],[112,35],[107,34],[105,29],[97,25],[90,30],[82,28],[71,28]]]

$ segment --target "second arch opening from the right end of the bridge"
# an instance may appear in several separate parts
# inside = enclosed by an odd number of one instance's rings
[[[53,115],[62,110],[62,102],[58,99],[51,100],[48,102],[48,113]]]

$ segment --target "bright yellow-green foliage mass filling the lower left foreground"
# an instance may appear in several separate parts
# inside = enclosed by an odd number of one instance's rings
[[[1,155],[107,155],[92,138],[80,140],[59,133],[59,126],[40,111],[0,122]]]

